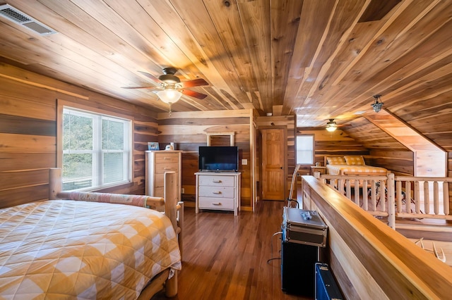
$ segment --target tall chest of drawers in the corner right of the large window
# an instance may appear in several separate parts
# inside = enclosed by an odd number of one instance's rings
[[[181,201],[182,151],[145,151],[145,163],[145,194],[162,197],[165,172],[174,171],[177,173],[177,201]]]

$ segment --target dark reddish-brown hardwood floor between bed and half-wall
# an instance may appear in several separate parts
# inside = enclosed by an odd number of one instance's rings
[[[213,211],[196,215],[194,208],[185,208],[184,257],[174,299],[309,299],[281,290],[281,241],[273,234],[281,230],[284,204],[259,201],[254,213],[241,211],[236,217]]]

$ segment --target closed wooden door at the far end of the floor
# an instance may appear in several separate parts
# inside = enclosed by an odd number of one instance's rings
[[[264,129],[262,132],[262,199],[285,200],[285,140],[284,129]]]

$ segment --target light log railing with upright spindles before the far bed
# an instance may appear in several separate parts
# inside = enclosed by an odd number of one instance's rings
[[[388,225],[394,229],[396,218],[452,220],[449,211],[452,177],[408,177],[392,173],[317,174],[316,177],[371,215],[388,218]]]

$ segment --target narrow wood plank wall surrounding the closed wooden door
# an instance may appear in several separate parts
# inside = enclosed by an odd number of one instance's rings
[[[285,127],[286,128],[286,135],[287,135],[287,177],[286,177],[286,187],[287,187],[287,194],[289,195],[290,191],[290,183],[292,182],[292,175],[295,170],[295,117],[293,115],[279,115],[279,116],[263,116],[263,117],[256,117],[256,125],[257,129],[261,128],[270,128],[270,127]],[[260,133],[258,133],[258,142],[257,142],[257,153],[260,153],[260,147],[261,147],[261,138]],[[257,185],[258,185],[258,194],[261,194],[261,185],[259,185],[260,182],[260,175],[261,175],[261,161],[259,158],[259,155],[256,158],[256,173],[258,174],[257,177]],[[287,198],[287,197],[286,197]]]

